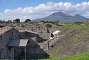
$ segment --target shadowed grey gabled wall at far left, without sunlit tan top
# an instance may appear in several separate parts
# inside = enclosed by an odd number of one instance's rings
[[[18,31],[15,29],[11,29],[6,31],[4,34],[0,36],[0,58],[9,58],[10,57],[10,50],[8,44],[12,40],[19,39]]]

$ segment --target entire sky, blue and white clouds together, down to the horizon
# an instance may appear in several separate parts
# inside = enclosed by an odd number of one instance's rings
[[[89,0],[0,0],[0,20],[37,19],[57,11],[89,18]]]

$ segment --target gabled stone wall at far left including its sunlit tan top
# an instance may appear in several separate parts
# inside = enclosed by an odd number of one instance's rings
[[[19,40],[18,31],[12,27],[0,28],[0,58],[10,58],[12,56],[9,44],[12,40]]]

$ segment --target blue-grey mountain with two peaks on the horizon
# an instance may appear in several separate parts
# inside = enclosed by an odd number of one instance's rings
[[[89,19],[79,14],[72,16],[64,12],[55,12],[47,17],[35,19],[35,21],[60,21],[60,22],[80,22],[86,20]]]

